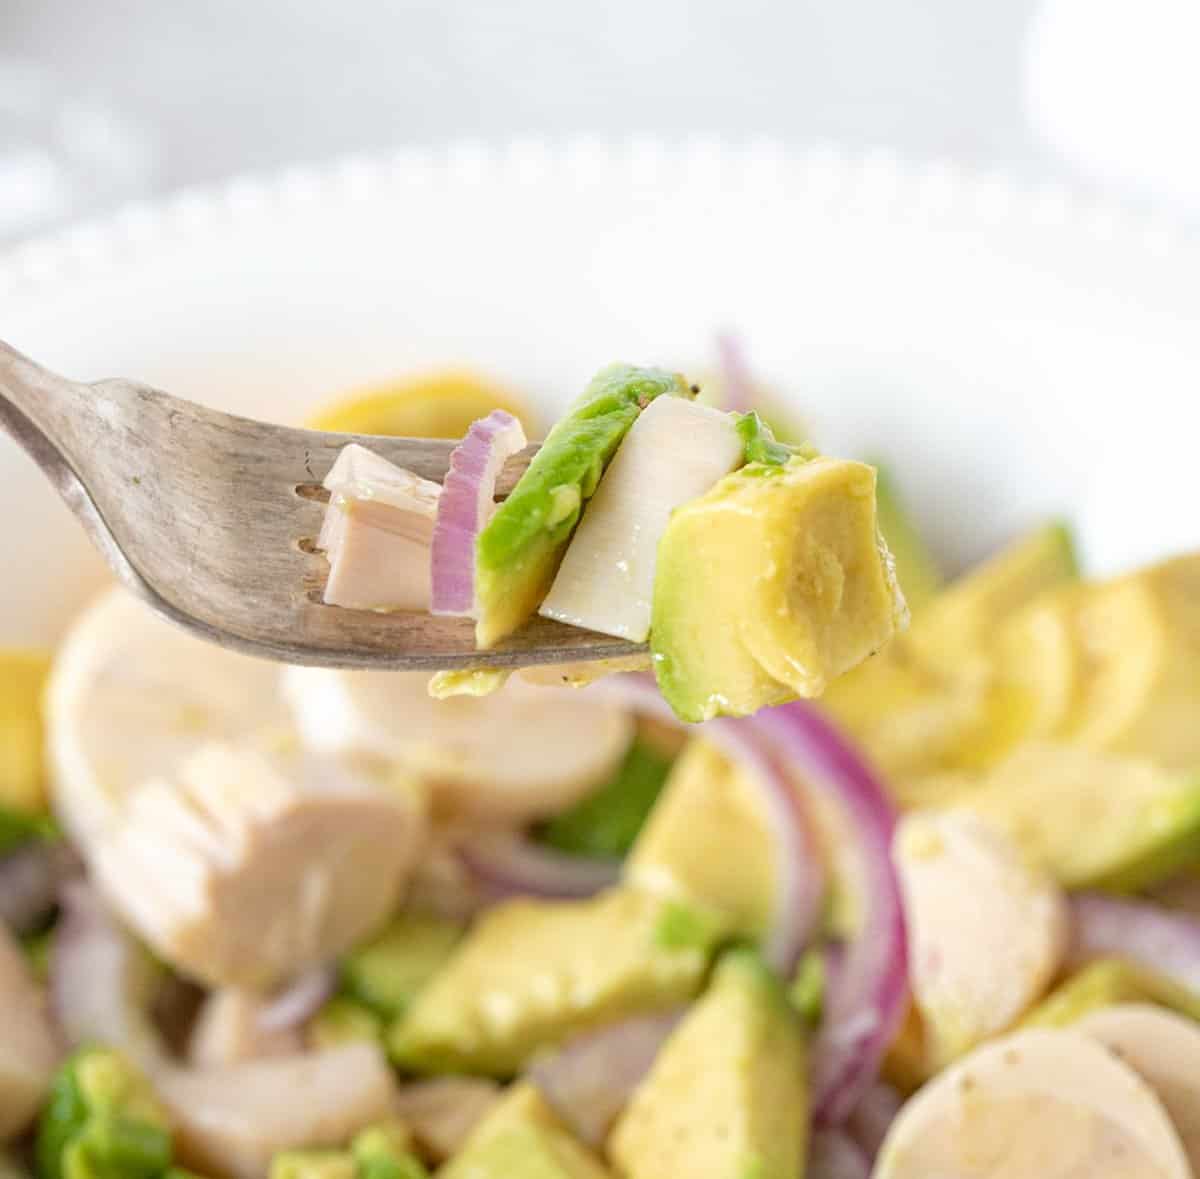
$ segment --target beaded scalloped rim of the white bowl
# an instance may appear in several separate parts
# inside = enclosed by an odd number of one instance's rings
[[[1200,228],[1166,209],[949,156],[906,157],[889,148],[823,142],[793,146],[761,136],[460,139],[240,172],[125,202],[0,249],[0,299],[53,293],[113,265],[137,265],[163,245],[296,205],[335,208],[412,184],[481,186],[548,172],[577,184],[648,166],[751,180],[790,172],[818,197],[876,217],[899,217],[916,207],[978,228],[1015,225],[1051,234],[1081,233],[1098,246],[1124,246],[1154,259],[1170,256],[1183,243],[1200,246]]]

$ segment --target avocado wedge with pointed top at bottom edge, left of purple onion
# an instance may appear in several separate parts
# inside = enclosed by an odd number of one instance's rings
[[[799,1179],[806,1154],[800,1017],[750,951],[721,958],[608,1139],[628,1179]]]

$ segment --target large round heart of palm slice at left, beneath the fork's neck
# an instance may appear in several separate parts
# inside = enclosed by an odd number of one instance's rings
[[[193,638],[113,590],[76,623],[50,676],[55,809],[86,851],[148,778],[206,741],[286,723],[277,665]]]

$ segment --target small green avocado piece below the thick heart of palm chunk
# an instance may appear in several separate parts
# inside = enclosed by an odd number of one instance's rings
[[[342,993],[385,1019],[402,1015],[462,933],[460,922],[445,917],[402,914],[342,959]]]

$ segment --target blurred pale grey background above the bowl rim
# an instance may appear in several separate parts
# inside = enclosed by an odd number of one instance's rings
[[[768,134],[1082,180],[1036,0],[2,0],[4,59],[144,132],[142,193],[446,138]],[[98,199],[98,198],[97,198]]]

